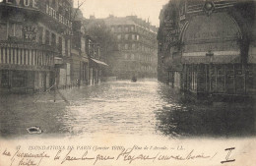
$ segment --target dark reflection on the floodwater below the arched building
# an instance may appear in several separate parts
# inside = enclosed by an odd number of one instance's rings
[[[164,135],[214,138],[255,135],[253,101],[194,100],[191,96],[177,95],[174,89],[164,86],[160,94],[168,103],[156,113],[158,129]]]

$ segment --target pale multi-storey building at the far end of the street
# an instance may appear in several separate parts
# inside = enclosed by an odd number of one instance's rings
[[[119,79],[157,77],[157,30],[149,22],[136,16],[106,19],[91,17],[88,22],[104,22],[116,38],[117,49],[110,61],[106,60],[113,75]]]

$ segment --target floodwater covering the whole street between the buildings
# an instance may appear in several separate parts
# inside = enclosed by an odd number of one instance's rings
[[[60,90],[57,94],[0,95],[0,135],[42,137],[115,136],[247,137],[255,134],[251,102],[191,100],[156,80],[118,81]]]

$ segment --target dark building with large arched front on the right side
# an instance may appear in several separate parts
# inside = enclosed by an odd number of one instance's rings
[[[254,1],[171,1],[158,40],[161,82],[203,96],[255,94]]]

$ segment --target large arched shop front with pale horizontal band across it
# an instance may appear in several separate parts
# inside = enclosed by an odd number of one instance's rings
[[[224,12],[190,19],[182,33],[184,88],[195,93],[246,93],[240,28]]]

